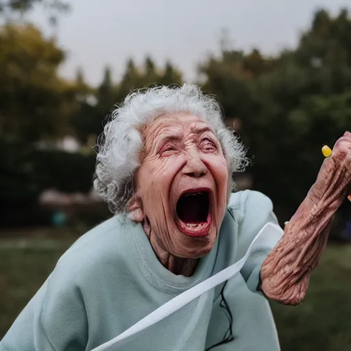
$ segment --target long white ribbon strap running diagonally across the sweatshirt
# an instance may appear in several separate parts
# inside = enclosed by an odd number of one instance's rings
[[[141,319],[139,322],[122,332],[114,339],[103,343],[102,345],[98,346],[97,348],[94,348],[91,351],[108,350],[111,346],[115,346],[117,343],[119,343],[119,341],[131,337],[137,332],[141,332],[141,330],[144,330],[149,326],[160,322],[162,319],[165,319],[175,311],[178,311],[180,308],[184,307],[186,304],[189,304],[189,302],[195,300],[203,293],[206,293],[210,289],[217,287],[217,285],[221,284],[222,282],[225,282],[226,280],[232,278],[237,273],[239,273],[239,271],[241,271],[241,268],[243,267],[243,265],[245,265],[245,262],[250,256],[250,253],[253,251],[254,247],[256,247],[260,242],[260,240],[258,239],[261,238],[261,240],[265,240],[265,235],[268,235],[270,240],[274,240],[274,242],[278,243],[278,241],[282,237],[282,232],[282,228],[280,228],[280,226],[274,223],[265,224],[265,226],[263,226],[263,228],[258,232],[256,237],[250,244],[250,247],[247,249],[245,256],[243,256],[243,258],[237,261],[237,263],[234,263],[234,265],[231,265],[228,268],[219,271],[219,273],[215,274],[215,276],[204,280],[204,282],[200,282],[199,284],[195,285],[195,287],[184,291],[180,295],[175,296],[175,298],[156,308],[154,312]]]

